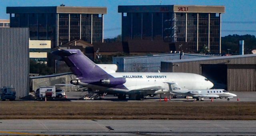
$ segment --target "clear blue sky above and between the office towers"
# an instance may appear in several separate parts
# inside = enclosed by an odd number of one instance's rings
[[[256,22],[256,0],[161,0],[162,5],[210,5],[225,6],[226,13],[222,14],[222,21]],[[159,5],[160,0],[0,0],[0,19],[9,19],[6,6],[105,6],[108,14],[104,16],[104,38],[121,34],[121,13],[118,5]],[[256,30],[256,24],[222,24],[222,30]],[[229,34],[252,34],[256,32],[222,32],[222,36]]]

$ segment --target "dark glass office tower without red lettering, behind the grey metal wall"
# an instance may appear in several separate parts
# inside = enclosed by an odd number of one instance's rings
[[[29,28],[31,40],[50,40],[52,48],[83,39],[103,41],[103,16],[106,7],[7,7],[11,28]]]

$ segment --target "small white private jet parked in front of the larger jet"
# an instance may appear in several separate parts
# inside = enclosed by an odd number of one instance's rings
[[[236,97],[235,94],[228,93],[228,91],[224,89],[181,89],[177,83],[168,83],[170,93],[174,93],[176,95],[184,95],[184,96],[192,96],[196,98],[198,101],[200,98],[225,98],[228,101],[230,98]]]

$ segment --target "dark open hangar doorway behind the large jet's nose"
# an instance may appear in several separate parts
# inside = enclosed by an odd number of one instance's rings
[[[201,64],[202,76],[207,77],[214,86],[212,89],[227,89],[226,64]]]

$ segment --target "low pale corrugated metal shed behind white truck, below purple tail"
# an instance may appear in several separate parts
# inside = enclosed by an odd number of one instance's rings
[[[56,84],[70,84],[70,81],[72,79],[76,79],[76,76],[73,74],[65,74],[65,75],[49,75],[43,76],[43,77],[31,77],[30,82],[32,85],[32,90],[35,91],[39,87],[43,86],[54,86]],[[80,91],[82,88],[79,88],[77,86],[59,86],[56,85],[57,89],[63,89],[64,91]]]

